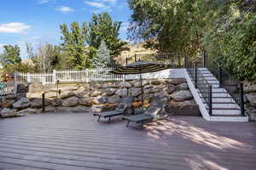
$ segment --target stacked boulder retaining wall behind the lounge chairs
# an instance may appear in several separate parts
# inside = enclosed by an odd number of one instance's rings
[[[140,81],[90,82],[42,85],[32,83],[26,96],[9,95],[3,99],[1,116],[26,116],[42,111],[45,93],[46,112],[111,111],[126,95],[135,96],[133,106],[141,99]],[[61,89],[61,94],[58,90]],[[143,81],[143,99],[148,105],[154,95],[165,95],[175,105],[195,105],[186,80],[183,78]]]

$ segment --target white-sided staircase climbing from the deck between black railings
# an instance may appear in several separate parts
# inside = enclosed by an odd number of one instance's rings
[[[241,116],[240,106],[236,104],[230,94],[219,87],[219,82],[207,68],[198,68],[207,82],[212,85],[212,115],[209,115],[209,108],[198,88],[195,88],[192,80],[186,73],[186,79],[196,103],[200,107],[202,116],[212,122],[248,122],[247,116]]]

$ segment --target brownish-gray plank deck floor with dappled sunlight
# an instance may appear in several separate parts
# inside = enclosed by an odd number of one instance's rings
[[[131,124],[132,126],[132,124]],[[0,169],[256,169],[256,123],[173,116],[143,131],[90,113],[0,121]]]

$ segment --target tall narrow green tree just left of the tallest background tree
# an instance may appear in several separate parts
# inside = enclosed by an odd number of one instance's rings
[[[86,23],[80,27],[78,22],[73,22],[70,30],[66,24],[61,26],[62,50],[67,54],[71,66],[83,69],[90,65],[90,59],[86,46],[87,26]]]

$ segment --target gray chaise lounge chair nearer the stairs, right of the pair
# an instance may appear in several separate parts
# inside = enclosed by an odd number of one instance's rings
[[[127,121],[126,127],[129,126],[130,122],[141,123],[141,129],[143,125],[148,122],[153,122],[160,119],[165,113],[167,98],[155,96],[150,102],[150,107],[143,114],[135,116],[124,116],[124,120]]]

